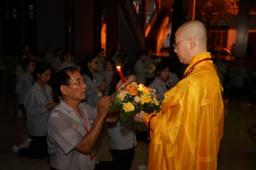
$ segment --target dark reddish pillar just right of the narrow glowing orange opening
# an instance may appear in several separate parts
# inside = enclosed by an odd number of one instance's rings
[[[106,57],[112,57],[111,51],[118,43],[118,6],[118,0],[111,0],[106,10]]]

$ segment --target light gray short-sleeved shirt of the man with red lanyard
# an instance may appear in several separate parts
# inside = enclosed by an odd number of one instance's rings
[[[79,107],[84,113],[88,130],[97,116],[97,108],[86,103],[80,103]],[[51,155],[50,165],[59,170],[83,169],[93,170],[95,160],[91,162],[89,155],[84,155],[74,150],[74,147],[82,141],[85,130],[85,121],[63,100],[50,113],[47,121],[48,153]]]

